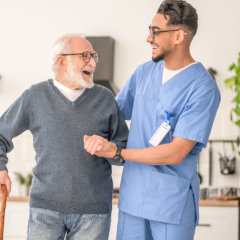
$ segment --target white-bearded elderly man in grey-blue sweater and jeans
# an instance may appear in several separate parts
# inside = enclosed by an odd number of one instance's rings
[[[112,93],[94,85],[98,54],[79,35],[64,35],[52,51],[55,79],[27,89],[0,118],[0,183],[10,193],[6,153],[25,130],[33,135],[36,167],[30,191],[28,239],[108,239],[116,159],[92,156],[85,134],[124,147],[128,130]]]

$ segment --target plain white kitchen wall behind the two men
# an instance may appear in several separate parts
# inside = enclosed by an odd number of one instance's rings
[[[91,36],[109,35],[116,40],[114,80],[121,88],[134,69],[151,58],[145,39],[148,25],[161,1],[156,0],[0,0],[0,114],[31,84],[51,77],[49,52],[56,38],[66,32]],[[189,0],[198,10],[199,30],[192,44],[193,57],[218,71],[222,102],[211,134],[212,139],[236,138],[238,131],[229,121],[233,95],[224,87],[231,75],[228,66],[240,51],[239,0]],[[9,154],[10,172],[28,172],[34,165],[29,133],[16,138]],[[221,150],[221,149],[220,149]],[[228,150],[228,151],[231,151]],[[216,151],[215,151],[216,152]],[[214,159],[214,183],[240,186],[239,174],[222,177]],[[208,156],[201,156],[200,170],[208,172]],[[115,185],[121,171],[113,170]],[[206,177],[204,178],[206,181]],[[219,181],[219,179],[221,181]],[[226,181],[225,181],[226,180]],[[205,182],[206,184],[206,182]],[[13,188],[14,191],[17,190]]]

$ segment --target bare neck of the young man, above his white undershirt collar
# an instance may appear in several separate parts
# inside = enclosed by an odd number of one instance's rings
[[[164,67],[169,70],[178,70],[184,68],[192,63],[196,62],[191,54],[174,54],[173,56],[167,56],[164,58]]]

